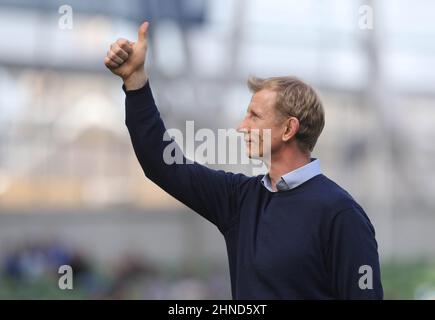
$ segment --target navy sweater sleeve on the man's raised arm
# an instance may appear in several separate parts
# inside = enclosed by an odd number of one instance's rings
[[[172,144],[170,150],[182,152],[166,132],[149,82],[138,90],[126,91],[124,86],[123,90],[125,123],[145,176],[224,232],[236,218],[237,189],[248,177],[213,170],[190,160],[186,163],[184,155],[182,163],[167,164],[163,157],[166,147]]]

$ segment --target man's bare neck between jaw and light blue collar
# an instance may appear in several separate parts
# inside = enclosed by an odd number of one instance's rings
[[[270,163],[266,163],[273,191],[277,191],[276,183],[281,177],[310,163],[311,155],[300,151],[299,147],[286,146],[282,150],[272,152]]]

